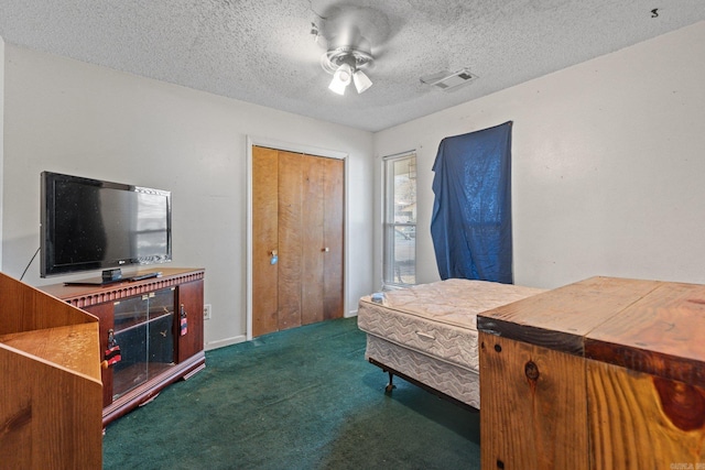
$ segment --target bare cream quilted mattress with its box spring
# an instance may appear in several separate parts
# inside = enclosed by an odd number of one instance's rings
[[[479,408],[477,314],[543,289],[486,281],[446,280],[360,299],[366,359],[404,373]]]

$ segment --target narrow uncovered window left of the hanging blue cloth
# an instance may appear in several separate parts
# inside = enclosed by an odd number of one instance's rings
[[[416,283],[416,155],[384,160],[384,285]]]

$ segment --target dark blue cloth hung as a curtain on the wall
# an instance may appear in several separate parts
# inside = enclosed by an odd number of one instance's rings
[[[431,237],[442,280],[513,282],[511,125],[441,141]]]

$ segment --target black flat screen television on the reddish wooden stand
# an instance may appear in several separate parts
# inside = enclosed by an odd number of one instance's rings
[[[43,172],[41,276],[172,259],[172,200],[166,190]],[[106,276],[106,273],[110,273]]]

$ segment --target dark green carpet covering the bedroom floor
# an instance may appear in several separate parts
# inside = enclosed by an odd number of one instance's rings
[[[106,469],[479,469],[479,414],[365,361],[356,318],[206,353],[108,426]]]

